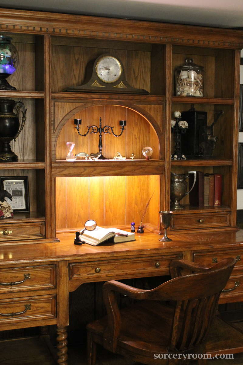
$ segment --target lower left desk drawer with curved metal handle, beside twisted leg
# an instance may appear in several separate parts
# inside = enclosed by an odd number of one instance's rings
[[[56,296],[0,300],[0,323],[25,322],[56,318]]]

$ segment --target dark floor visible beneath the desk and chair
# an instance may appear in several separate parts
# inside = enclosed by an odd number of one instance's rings
[[[55,365],[55,361],[48,350],[46,342],[38,337],[24,338],[18,340],[0,341],[0,364],[1,365]],[[86,365],[85,349],[78,346],[68,348],[69,365]],[[97,349],[96,365],[138,365],[124,357],[117,356],[103,350]],[[242,365],[243,353],[235,354],[233,360],[208,360],[210,365]],[[183,365],[183,361],[181,362]],[[197,365],[197,361],[190,362],[190,365]]]

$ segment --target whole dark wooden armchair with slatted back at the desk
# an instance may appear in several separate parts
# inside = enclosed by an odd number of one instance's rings
[[[107,316],[87,325],[88,365],[95,364],[96,343],[142,364],[185,364],[183,358],[169,359],[169,354],[204,353],[204,339],[235,262],[226,258],[205,268],[173,260],[172,280],[152,290],[107,281],[103,285]],[[180,276],[181,269],[193,274]],[[136,301],[119,311],[117,293]],[[198,359],[198,363],[205,365],[206,360]]]

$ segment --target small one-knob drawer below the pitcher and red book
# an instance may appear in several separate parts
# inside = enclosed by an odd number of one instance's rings
[[[202,213],[172,215],[171,230],[188,230],[195,228],[228,227],[230,226],[230,213]]]

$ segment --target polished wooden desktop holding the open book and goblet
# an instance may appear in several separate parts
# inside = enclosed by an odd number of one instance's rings
[[[59,234],[60,242],[3,245],[0,265],[51,261],[90,261],[101,258],[128,258],[145,255],[169,254],[182,251],[224,250],[243,248],[243,230],[214,233],[169,234],[171,242],[161,242],[154,233],[136,233],[136,241],[103,243],[99,246],[74,245],[75,234]]]

